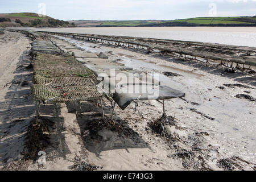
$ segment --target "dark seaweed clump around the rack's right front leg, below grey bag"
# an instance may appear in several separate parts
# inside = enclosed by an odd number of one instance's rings
[[[165,130],[165,125],[168,126],[177,126],[176,118],[172,116],[168,116],[163,114],[162,117],[156,119],[156,121],[152,121],[148,123],[148,126],[151,127],[152,131],[157,134],[160,134],[163,137],[167,137],[169,134]]]

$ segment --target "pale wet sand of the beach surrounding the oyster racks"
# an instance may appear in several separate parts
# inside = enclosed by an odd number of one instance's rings
[[[255,28],[246,31],[255,32]],[[176,118],[174,126],[166,126],[171,137],[160,136],[150,128],[150,123],[163,114],[157,101],[141,101],[137,107],[131,104],[124,111],[117,107],[114,121],[129,135],[108,127],[99,128],[93,135],[88,123],[101,118],[95,102],[46,104],[41,108],[42,121],[51,123],[46,164],[26,159],[27,133],[36,113],[27,51],[31,39],[5,31],[0,35],[0,170],[72,170],[76,159],[97,166],[97,170],[255,170],[255,102],[235,97],[246,91],[256,98],[254,75],[224,74],[224,69],[216,65],[177,61],[175,57],[130,48],[71,38],[51,40],[104,52],[110,60],[127,67],[159,73],[164,85],[185,92],[185,100],[166,101],[166,115]],[[164,71],[182,76],[167,77]],[[104,98],[103,105],[105,114],[111,115],[110,101]]]

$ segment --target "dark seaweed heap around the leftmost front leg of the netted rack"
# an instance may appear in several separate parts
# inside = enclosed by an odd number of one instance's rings
[[[28,127],[26,134],[26,148],[23,151],[25,159],[37,160],[38,152],[46,150],[50,144],[49,133],[53,129],[54,123],[47,118],[39,117],[34,119]]]

